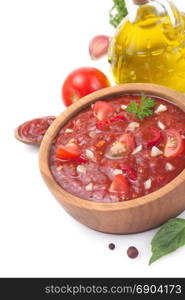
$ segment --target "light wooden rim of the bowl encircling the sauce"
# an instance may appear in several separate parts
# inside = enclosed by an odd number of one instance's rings
[[[111,100],[114,97],[128,94],[145,93],[150,96],[157,96],[164,98],[167,101],[176,104],[182,110],[185,110],[185,95],[172,90],[170,88],[148,84],[148,83],[128,83],[124,85],[116,85],[108,87],[94,93],[91,93],[78,102],[69,106],[63,111],[56,120],[51,124],[47,130],[39,150],[39,168],[43,176],[44,181],[48,185],[49,189],[52,189],[53,194],[60,193],[62,202],[66,202],[68,205],[74,205],[79,208],[92,209],[95,211],[117,211],[117,210],[128,210],[131,208],[142,207],[149,203],[153,203],[158,198],[167,195],[172,190],[177,188],[185,181],[185,169],[172,181],[163,186],[162,188],[149,193],[148,195],[135,198],[133,200],[122,201],[122,202],[95,202],[77,197],[67,191],[65,191],[55,180],[49,168],[49,153],[53,139],[58,134],[59,130],[68,122],[68,120],[77,115],[82,109],[88,107],[92,103],[98,100]]]

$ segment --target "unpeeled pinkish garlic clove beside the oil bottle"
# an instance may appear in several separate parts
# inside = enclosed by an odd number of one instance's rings
[[[97,59],[108,52],[110,37],[107,35],[95,36],[89,44],[89,54],[92,59]]]

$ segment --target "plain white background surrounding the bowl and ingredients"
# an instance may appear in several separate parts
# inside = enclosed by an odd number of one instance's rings
[[[185,10],[184,1],[175,2]],[[64,110],[61,85],[73,69],[95,66],[110,76],[106,58],[90,60],[88,43],[114,33],[111,6],[111,0],[0,0],[1,277],[185,276],[185,248],[148,266],[156,230],[109,235],[72,219],[41,178],[38,150],[13,136],[20,123]],[[135,260],[126,255],[131,245],[140,251]]]

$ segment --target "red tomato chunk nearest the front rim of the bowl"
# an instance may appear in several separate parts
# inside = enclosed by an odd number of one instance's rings
[[[129,183],[123,174],[116,175],[109,188],[109,192],[129,193]]]

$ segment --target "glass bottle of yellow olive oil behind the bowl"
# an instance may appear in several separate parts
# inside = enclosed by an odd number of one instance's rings
[[[185,92],[185,17],[172,1],[126,0],[128,16],[109,49],[117,84],[146,82]]]

